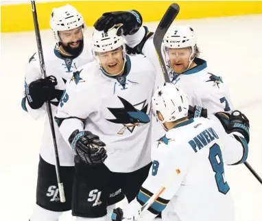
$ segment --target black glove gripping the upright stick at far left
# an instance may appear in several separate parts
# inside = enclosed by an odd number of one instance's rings
[[[56,77],[40,78],[26,86],[25,95],[32,109],[38,109],[47,101],[56,97]]]

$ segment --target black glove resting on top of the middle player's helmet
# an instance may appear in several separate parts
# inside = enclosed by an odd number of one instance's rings
[[[141,14],[136,10],[106,12],[94,24],[98,31],[108,32],[108,30],[117,24],[123,24],[119,28],[117,35],[128,35],[136,33],[142,26],[143,20]]]

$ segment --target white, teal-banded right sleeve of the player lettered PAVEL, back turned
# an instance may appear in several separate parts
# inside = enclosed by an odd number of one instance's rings
[[[214,116],[215,117],[215,116]],[[222,124],[217,122],[215,127],[219,131],[219,136],[224,144],[222,156],[226,165],[237,165],[244,163],[248,157],[248,143],[246,139],[238,132],[226,133]]]

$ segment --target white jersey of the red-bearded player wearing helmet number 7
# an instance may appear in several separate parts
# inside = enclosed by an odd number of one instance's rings
[[[126,36],[127,45],[135,47],[144,36],[145,28],[141,27],[135,34]],[[146,40],[142,53],[154,64],[156,69],[156,88],[159,88],[163,86],[165,80],[154,48],[153,37],[154,35]],[[194,62],[197,64],[196,67],[178,75],[167,66],[171,83],[176,84],[184,93],[187,93],[189,105],[202,106],[209,113],[217,113],[219,111],[230,113],[233,110],[233,104],[230,102],[228,86],[221,75],[209,71],[205,60],[195,58]],[[153,125],[154,127],[157,127],[162,133],[164,132],[163,128],[156,124]],[[156,132],[157,130],[154,131]],[[156,132],[153,137],[159,137],[160,134],[161,132]]]

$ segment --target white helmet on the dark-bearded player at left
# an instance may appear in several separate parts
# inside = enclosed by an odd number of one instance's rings
[[[83,16],[72,5],[67,4],[60,8],[53,8],[50,18],[50,27],[55,36],[57,47],[61,41],[58,34],[59,31],[73,30],[81,26],[83,31],[85,29]]]

